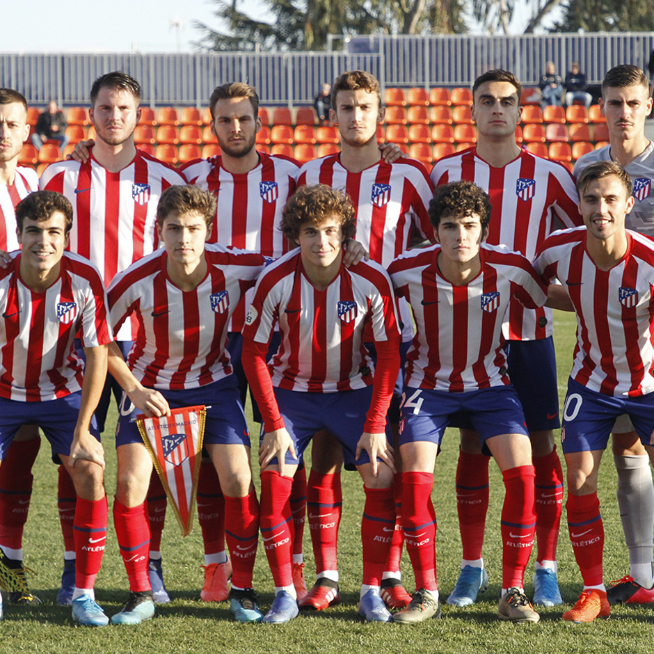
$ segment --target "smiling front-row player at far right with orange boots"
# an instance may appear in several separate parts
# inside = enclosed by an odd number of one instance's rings
[[[561,282],[577,314],[561,443],[568,468],[568,529],[584,590],[563,619],[591,622],[611,612],[603,583],[597,483],[616,417],[629,415],[654,458],[654,246],[625,229],[634,198],[619,163],[584,168],[577,190],[585,227],[552,234],[534,266],[543,278]]]

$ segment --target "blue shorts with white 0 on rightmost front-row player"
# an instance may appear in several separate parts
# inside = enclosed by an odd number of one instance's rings
[[[631,418],[643,445],[654,445],[654,393],[614,397],[568,379],[561,429],[564,454],[606,449],[616,417],[623,414]]]

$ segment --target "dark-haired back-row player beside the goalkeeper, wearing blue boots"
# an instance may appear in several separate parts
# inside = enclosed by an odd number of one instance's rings
[[[522,113],[520,92],[520,82],[506,70],[489,70],[477,77],[472,86],[477,146],[437,161],[431,181],[438,186],[468,180],[481,186],[493,207],[487,242],[505,244],[532,260],[557,220],[572,227],[579,222],[579,215],[568,170],[516,143]],[[536,471],[534,603],[552,606],[561,603],[556,552],[563,501],[563,472],[552,431],[559,426],[552,312],[513,303],[508,318],[504,338],[509,341],[509,374],[525,411]],[[534,376],[533,370],[539,374]],[[488,510],[488,458],[481,454],[478,437],[470,429],[461,433],[456,500],[463,561],[447,603],[466,606],[488,584],[481,557]]]

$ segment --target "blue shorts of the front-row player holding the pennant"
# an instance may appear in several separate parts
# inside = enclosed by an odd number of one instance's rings
[[[207,406],[205,445],[234,443],[250,447],[250,432],[234,375],[199,388],[159,392],[166,398],[170,408],[198,404]],[[129,442],[143,442],[136,425],[136,415],[139,413],[142,412],[131,404],[127,394],[123,393],[120,400],[120,417],[115,430],[116,447]]]

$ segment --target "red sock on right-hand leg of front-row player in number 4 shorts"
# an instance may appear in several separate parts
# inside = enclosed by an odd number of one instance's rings
[[[522,588],[536,531],[534,466],[504,470],[502,479],[502,588]]]

